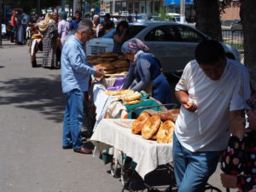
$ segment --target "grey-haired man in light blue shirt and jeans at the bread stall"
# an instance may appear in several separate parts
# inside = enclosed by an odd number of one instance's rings
[[[61,54],[61,85],[66,97],[63,122],[62,148],[73,148],[75,152],[90,154],[82,145],[81,128],[84,119],[84,91],[89,89],[91,74],[102,76],[100,69],[88,65],[84,44],[92,37],[91,20],[81,20],[77,32],[67,38]]]

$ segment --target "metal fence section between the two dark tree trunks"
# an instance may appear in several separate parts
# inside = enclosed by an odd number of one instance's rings
[[[243,32],[230,29],[222,30],[222,38],[225,44],[231,44],[240,52],[243,52]]]

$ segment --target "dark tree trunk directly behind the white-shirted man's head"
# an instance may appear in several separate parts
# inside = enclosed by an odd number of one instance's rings
[[[213,39],[222,41],[218,0],[195,0],[195,27]]]

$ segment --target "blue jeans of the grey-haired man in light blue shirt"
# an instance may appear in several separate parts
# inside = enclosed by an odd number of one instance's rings
[[[84,119],[84,92],[78,89],[65,93],[62,146],[82,147],[81,129]]]

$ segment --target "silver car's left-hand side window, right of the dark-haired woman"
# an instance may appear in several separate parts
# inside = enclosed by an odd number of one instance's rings
[[[145,41],[176,41],[172,27],[159,26],[148,32]]]

